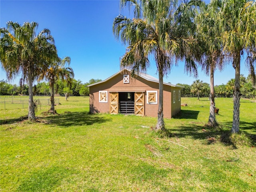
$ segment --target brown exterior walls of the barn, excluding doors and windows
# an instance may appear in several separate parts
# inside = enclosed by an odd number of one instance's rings
[[[171,118],[173,113],[180,110],[180,104],[178,107],[178,94],[176,93],[175,109],[171,109],[172,105],[172,91],[173,87],[164,85],[164,118]],[[178,89],[176,92],[178,92]],[[108,102],[99,102],[99,91],[108,91]],[[90,86],[90,112],[91,113],[106,113],[110,111],[110,91],[111,92],[145,92],[144,95],[144,111],[145,116],[157,117],[158,104],[147,104],[146,91],[157,91],[159,98],[158,83],[149,82],[144,78],[138,77],[136,80],[130,78],[130,83],[124,84],[123,75],[118,74],[100,84]],[[179,102],[180,103],[180,102]]]

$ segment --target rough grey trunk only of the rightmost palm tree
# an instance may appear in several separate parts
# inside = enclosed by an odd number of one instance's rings
[[[239,132],[239,121],[240,121],[240,51],[236,53],[233,60],[233,67],[235,68],[235,85],[234,85],[234,110],[233,110],[233,124],[231,128],[232,133]]]

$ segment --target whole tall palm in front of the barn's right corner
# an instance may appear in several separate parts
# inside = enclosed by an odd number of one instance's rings
[[[194,39],[188,37],[193,26],[188,20],[183,23],[182,14],[175,12],[179,10],[176,5],[176,0],[120,0],[121,8],[135,7],[134,18],[119,15],[113,23],[116,38],[120,38],[125,45],[128,44],[120,61],[121,68],[129,68],[133,76],[146,71],[150,66],[149,57],[154,56],[159,77],[156,130],[164,129],[163,76],[170,72],[174,59],[186,58],[185,67],[194,66],[193,70],[197,72],[196,65],[188,54],[191,50],[196,50]],[[194,47],[191,49],[192,46]]]

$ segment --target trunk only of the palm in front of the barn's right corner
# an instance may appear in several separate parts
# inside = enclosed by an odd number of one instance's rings
[[[158,120],[156,124],[156,130],[164,130],[164,113],[163,113],[163,95],[164,95],[164,83],[162,69],[158,70],[159,76],[159,104],[158,104]]]

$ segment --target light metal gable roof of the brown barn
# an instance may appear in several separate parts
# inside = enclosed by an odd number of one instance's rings
[[[100,82],[96,82],[96,83],[90,84],[90,85],[88,85],[87,87],[90,87],[90,86],[93,86],[93,85],[97,85],[97,84],[100,84],[100,83],[104,83],[104,82],[106,82],[106,81],[112,79],[114,76],[117,76],[118,74],[122,73],[124,70],[127,70],[127,71],[130,72],[130,70],[128,70],[128,69],[123,69],[123,70],[117,72],[116,74],[110,76],[109,78],[107,78],[107,79],[105,79],[105,80],[103,80],[103,81],[100,81]],[[157,78],[155,78],[155,77],[153,77],[153,76],[150,76],[150,75],[148,75],[148,74],[146,74],[146,73],[141,73],[141,72],[140,72],[139,74],[136,74],[136,75],[139,76],[139,77],[141,77],[141,78],[144,78],[144,79],[147,80],[147,81],[159,83],[159,80],[158,80]],[[184,88],[184,86],[181,86],[181,85],[175,85],[175,84],[165,83],[165,82],[164,82],[164,85],[168,85],[168,86],[172,86],[172,87]]]

